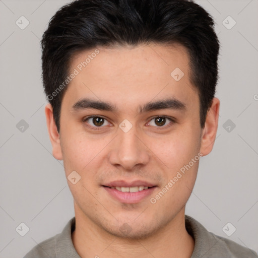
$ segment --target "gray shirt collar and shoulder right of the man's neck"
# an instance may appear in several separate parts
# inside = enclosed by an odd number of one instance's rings
[[[188,215],[185,215],[185,228],[195,239],[191,258],[258,258],[253,250],[209,232],[200,222]]]

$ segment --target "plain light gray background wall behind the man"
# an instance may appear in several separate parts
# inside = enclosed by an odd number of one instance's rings
[[[74,216],[62,162],[51,154],[39,45],[49,19],[66,3],[0,0],[0,257],[23,257],[34,245],[59,233]],[[197,3],[217,23],[222,46],[216,97],[221,106],[217,139],[212,153],[201,158],[186,214],[209,231],[257,252],[258,1]],[[26,24],[21,16],[29,21],[23,30],[16,25],[17,20]],[[236,21],[231,29],[233,20],[228,16]],[[22,119],[28,128],[21,127]],[[24,236],[16,231],[22,222],[29,227]],[[228,222],[236,228],[231,236],[222,230]],[[227,229],[232,232],[231,225]]]

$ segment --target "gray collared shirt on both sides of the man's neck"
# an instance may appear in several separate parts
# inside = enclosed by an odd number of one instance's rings
[[[195,248],[191,258],[255,258],[257,254],[232,240],[215,235],[197,220],[185,215],[187,232],[195,239]],[[61,233],[34,246],[24,258],[80,258],[73,241],[75,217],[64,227]]]

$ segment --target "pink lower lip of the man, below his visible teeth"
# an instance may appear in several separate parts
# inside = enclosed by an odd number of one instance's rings
[[[147,196],[150,196],[157,186],[137,192],[122,192],[106,186],[103,187],[115,200],[126,204],[136,204],[141,202]]]

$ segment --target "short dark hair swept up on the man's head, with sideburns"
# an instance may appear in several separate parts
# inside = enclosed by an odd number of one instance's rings
[[[186,47],[204,127],[218,80],[219,40],[213,18],[187,0],[77,0],[55,13],[41,40],[43,86],[58,132],[61,100],[67,90],[60,86],[68,77],[73,56],[98,46],[144,43]]]

